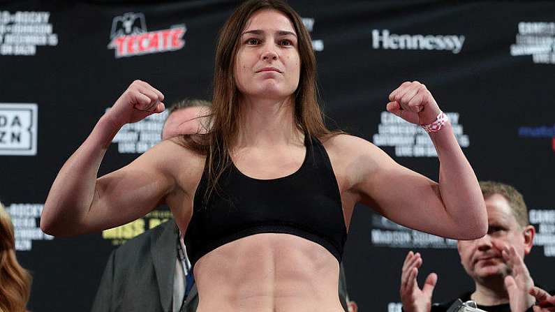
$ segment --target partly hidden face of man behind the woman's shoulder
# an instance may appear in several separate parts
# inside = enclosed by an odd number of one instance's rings
[[[202,133],[201,122],[202,117],[209,108],[203,106],[186,107],[175,110],[165,120],[164,128],[162,129],[162,140],[175,137],[177,135],[188,135],[195,133]]]

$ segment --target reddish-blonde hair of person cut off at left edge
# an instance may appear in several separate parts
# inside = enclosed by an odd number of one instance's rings
[[[0,312],[22,312],[31,294],[31,275],[15,258],[10,216],[0,202]]]

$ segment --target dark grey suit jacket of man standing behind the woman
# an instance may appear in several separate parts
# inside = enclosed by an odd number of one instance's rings
[[[170,219],[112,251],[91,311],[172,312],[178,236]],[[193,285],[181,312],[194,312],[197,305]]]

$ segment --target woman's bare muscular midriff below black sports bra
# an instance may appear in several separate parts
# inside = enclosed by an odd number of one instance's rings
[[[197,312],[342,312],[339,263],[323,246],[289,234],[237,239],[194,267]]]

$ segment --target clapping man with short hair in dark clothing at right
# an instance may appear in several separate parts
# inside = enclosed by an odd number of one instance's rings
[[[521,193],[514,187],[493,181],[480,182],[486,203],[489,229],[471,241],[457,242],[461,264],[474,283],[474,290],[459,295],[463,302],[473,300],[479,309],[498,312],[532,312],[539,310],[535,301],[545,301],[549,294],[539,288],[531,292],[534,282],[524,264],[524,256],[533,246],[535,229],[528,221],[528,209]],[[437,281],[429,274],[422,289],[417,285],[419,253],[408,253],[401,274],[401,302],[406,312],[445,312],[455,300],[431,304]],[[547,295],[546,295],[547,294]],[[545,298],[545,299],[542,299]],[[549,308],[547,308],[549,309]],[[549,310],[545,311],[549,311]]]

